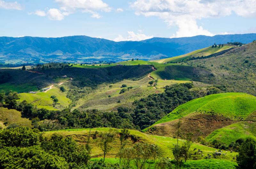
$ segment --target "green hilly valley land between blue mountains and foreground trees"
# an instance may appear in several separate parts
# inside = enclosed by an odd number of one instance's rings
[[[114,164],[119,163],[126,128],[125,150],[135,151],[140,143],[159,149],[145,162],[149,168],[161,158],[176,166],[173,150],[178,143],[189,143],[189,158],[180,163],[182,168],[235,169],[240,141],[256,139],[255,45],[210,46],[153,61],[0,69],[1,131],[22,137],[24,131],[40,133],[45,142],[59,139],[64,144],[72,139],[72,145],[90,145],[86,153],[91,161],[104,156]],[[113,133],[111,148],[104,154],[100,139]],[[49,149],[38,142],[24,149]]]

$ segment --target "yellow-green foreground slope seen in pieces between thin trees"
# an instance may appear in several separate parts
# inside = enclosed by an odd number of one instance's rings
[[[108,128],[93,128],[92,134],[94,134],[96,130],[98,132],[100,132],[100,131],[104,132],[104,131],[108,131]],[[59,130],[59,131],[50,131],[50,132],[45,132],[44,135],[46,137],[49,137],[53,133],[58,133],[58,134],[61,134],[64,136],[72,136],[77,142],[79,142],[81,144],[85,144],[86,140],[88,138],[89,129],[67,129],[67,130]],[[175,144],[177,142],[176,139],[170,138],[170,137],[148,135],[148,134],[136,131],[136,130],[130,130],[130,133],[132,135],[136,136],[137,138],[139,138],[139,140],[142,142],[148,142],[148,143],[153,143],[153,144],[158,145],[161,148],[160,156],[173,158],[170,148],[172,148],[173,144]],[[182,142],[182,141],[183,140],[180,140],[180,142]],[[132,146],[133,143],[134,142],[132,140],[130,140],[128,143],[128,146]],[[113,149],[107,154],[107,157],[115,157],[116,156],[116,153],[119,150],[119,144],[120,144],[120,141],[118,138],[116,138],[115,141],[112,143]],[[91,153],[92,157],[102,157],[102,152],[97,147],[97,142],[95,140],[92,140],[91,145],[93,147],[92,153]],[[207,147],[207,146],[204,146],[204,145],[201,145],[198,143],[194,143],[192,145],[192,147],[191,147],[192,153],[194,153],[194,151],[193,151],[194,148],[203,150],[204,154],[207,154],[207,153],[212,154],[213,152],[215,152],[214,148]],[[220,156],[219,158],[232,161],[233,157],[235,157],[235,156],[236,156],[236,153],[228,152],[226,156]],[[200,159],[200,158],[204,158],[204,157],[200,155],[200,157],[198,157],[198,158]]]

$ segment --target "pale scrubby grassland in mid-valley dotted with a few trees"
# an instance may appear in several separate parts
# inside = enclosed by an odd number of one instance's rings
[[[92,91],[90,94],[79,99],[76,102],[76,106],[73,109],[98,109],[98,110],[113,110],[121,105],[130,106],[134,100],[138,100],[142,97],[146,97],[154,93],[164,92],[166,85],[172,85],[176,83],[186,83],[190,81],[175,81],[175,80],[159,80],[156,87],[149,86],[148,82],[152,79],[148,76],[138,81],[123,80],[113,84],[101,85],[98,89]],[[127,87],[133,88],[129,91],[119,94],[122,84],[126,84]],[[112,85],[111,88],[109,86]],[[110,96],[110,97],[109,97]],[[120,103],[117,103],[118,101]]]

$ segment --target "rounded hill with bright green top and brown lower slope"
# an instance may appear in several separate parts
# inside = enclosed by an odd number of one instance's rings
[[[253,113],[255,111],[255,96],[245,93],[213,94],[178,106],[153,126],[143,131],[157,135],[174,136],[175,124],[180,119],[182,132],[195,133],[200,129],[206,137],[214,130],[238,121],[254,121]]]

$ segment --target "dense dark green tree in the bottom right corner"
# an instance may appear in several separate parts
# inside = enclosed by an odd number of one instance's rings
[[[256,141],[252,138],[247,138],[242,143],[236,156],[236,161],[241,169],[256,168]]]

